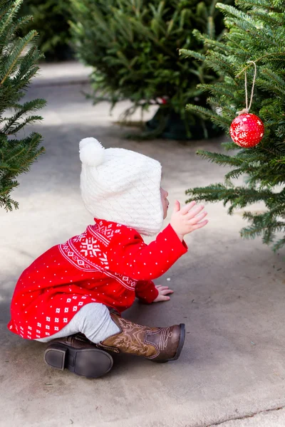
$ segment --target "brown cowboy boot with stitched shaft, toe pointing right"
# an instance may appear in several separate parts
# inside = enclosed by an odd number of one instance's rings
[[[170,327],[147,327],[136,325],[114,312],[110,312],[110,316],[120,332],[97,344],[99,348],[136,354],[153,362],[168,362],[180,357],[185,341],[184,323]]]

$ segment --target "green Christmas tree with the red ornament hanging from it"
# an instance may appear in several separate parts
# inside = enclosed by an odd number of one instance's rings
[[[224,201],[229,214],[264,202],[261,213],[246,212],[249,226],[242,229],[245,238],[262,236],[263,242],[274,250],[285,243],[285,2],[284,0],[238,0],[237,8],[217,4],[224,12],[229,32],[224,43],[212,41],[196,32],[209,46],[207,55],[200,58],[219,74],[220,81],[199,88],[211,93],[211,109],[188,105],[188,110],[208,117],[229,132],[237,112],[245,107],[244,73],[252,85],[254,66],[257,80],[251,113],[265,125],[262,141],[254,148],[241,149],[234,142],[224,143],[235,154],[199,151],[198,154],[222,166],[230,167],[224,184],[210,184],[186,191],[191,199]],[[195,53],[187,52],[195,56]],[[242,176],[244,184],[234,186],[233,179]]]

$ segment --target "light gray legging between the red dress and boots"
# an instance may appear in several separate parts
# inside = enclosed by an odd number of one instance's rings
[[[111,319],[110,312],[105,305],[90,302],[90,304],[84,305],[62,330],[50,337],[36,339],[36,341],[48,342],[51,339],[68,337],[76,332],[81,332],[96,344],[113,334],[118,334],[120,329]]]

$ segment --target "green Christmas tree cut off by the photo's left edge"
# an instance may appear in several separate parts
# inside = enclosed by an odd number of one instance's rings
[[[38,148],[38,133],[17,138],[24,126],[42,119],[33,112],[46,103],[41,99],[21,102],[42,57],[35,46],[36,31],[18,36],[31,21],[31,16],[16,18],[22,1],[0,0],[0,206],[6,211],[18,208],[18,202],[11,199],[11,191],[19,185],[16,176],[28,172],[43,152],[43,147]]]

